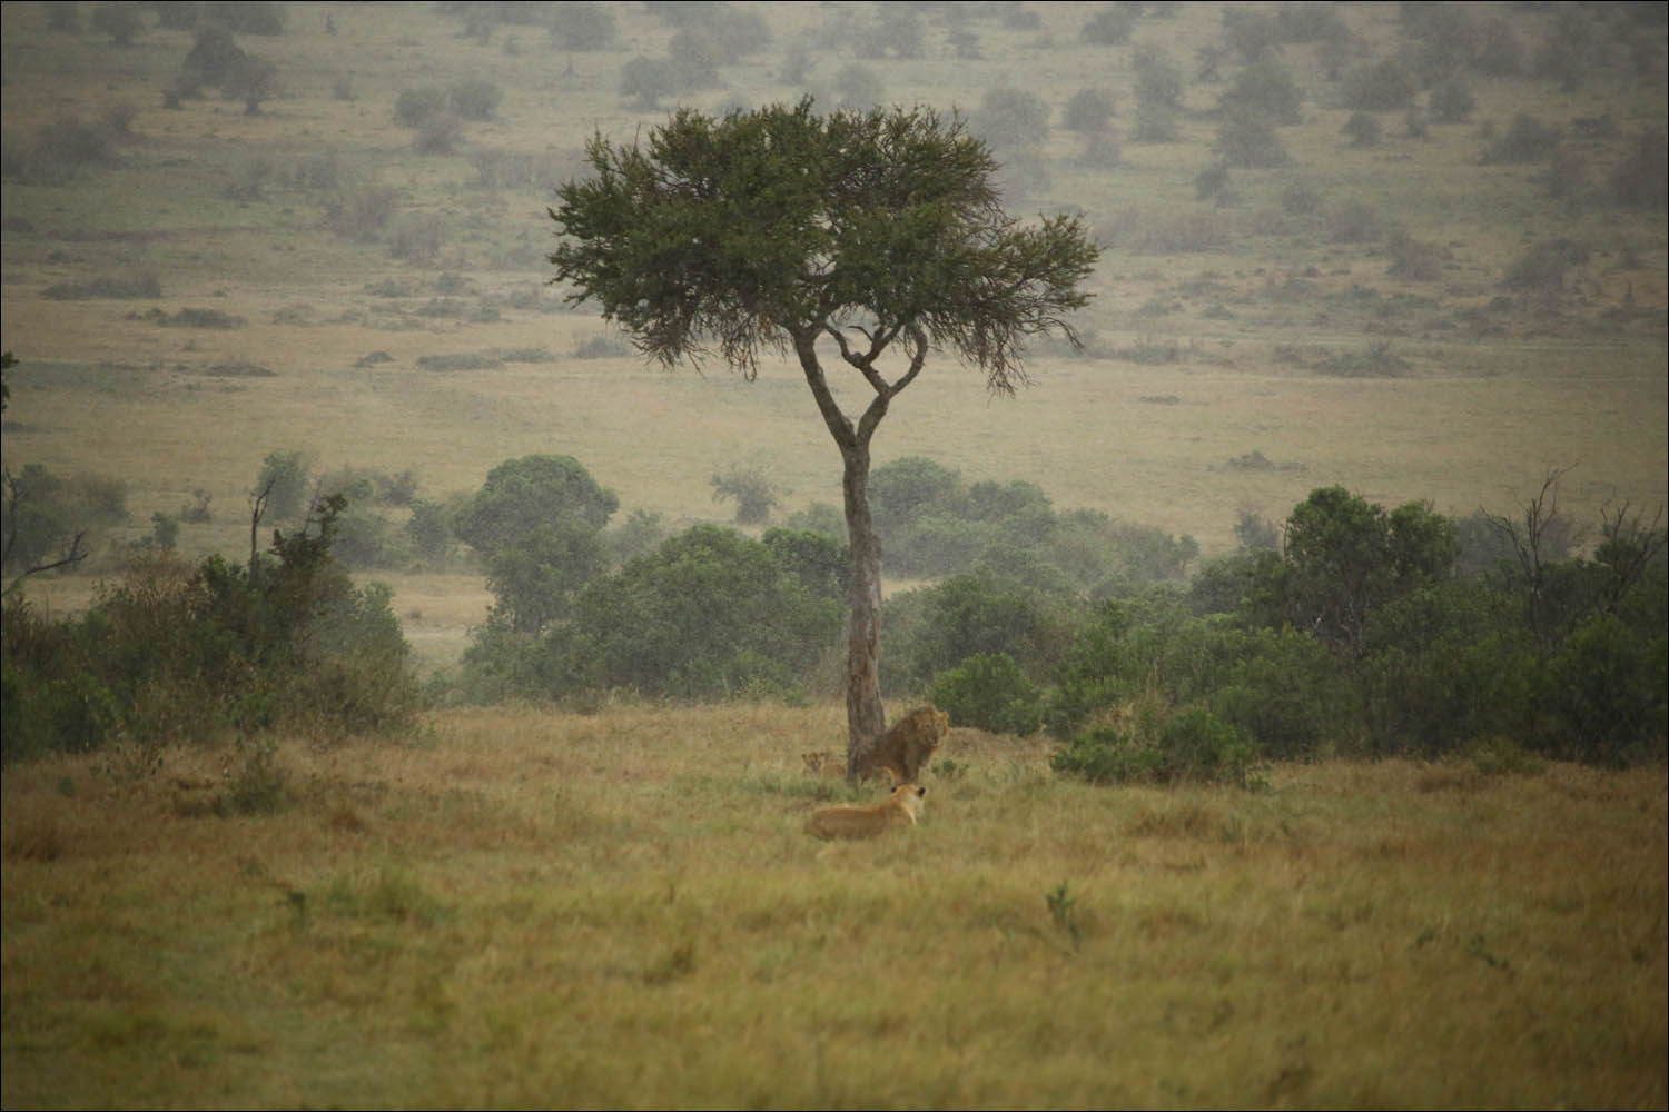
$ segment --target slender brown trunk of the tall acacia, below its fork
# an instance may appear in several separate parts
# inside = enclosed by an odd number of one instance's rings
[[[886,732],[881,707],[881,542],[870,517],[870,443],[841,445],[846,533],[851,540],[851,627],[846,640],[846,779]]]

